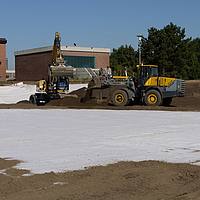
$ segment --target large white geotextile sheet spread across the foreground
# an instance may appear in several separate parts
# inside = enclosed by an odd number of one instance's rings
[[[0,110],[0,157],[32,173],[117,161],[200,164],[200,112]]]

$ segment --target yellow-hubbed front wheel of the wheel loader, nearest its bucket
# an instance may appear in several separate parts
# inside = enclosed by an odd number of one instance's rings
[[[112,96],[112,102],[115,106],[125,106],[128,103],[128,96],[125,91],[117,90]]]

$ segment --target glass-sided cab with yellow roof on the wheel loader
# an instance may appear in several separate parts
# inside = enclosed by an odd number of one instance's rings
[[[143,86],[151,77],[158,76],[157,65],[137,65],[138,86]]]

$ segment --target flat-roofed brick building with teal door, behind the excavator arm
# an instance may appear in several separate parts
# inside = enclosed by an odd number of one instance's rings
[[[52,46],[16,51],[15,77],[17,81],[35,81],[48,78]],[[66,65],[74,68],[100,69],[109,66],[110,48],[61,46]]]

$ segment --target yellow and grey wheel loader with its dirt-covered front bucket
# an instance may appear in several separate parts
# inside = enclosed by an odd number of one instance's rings
[[[82,101],[96,98],[98,103],[107,101],[115,106],[126,106],[132,101],[168,106],[172,98],[185,95],[184,80],[158,76],[157,65],[137,65],[137,77],[93,77]]]

